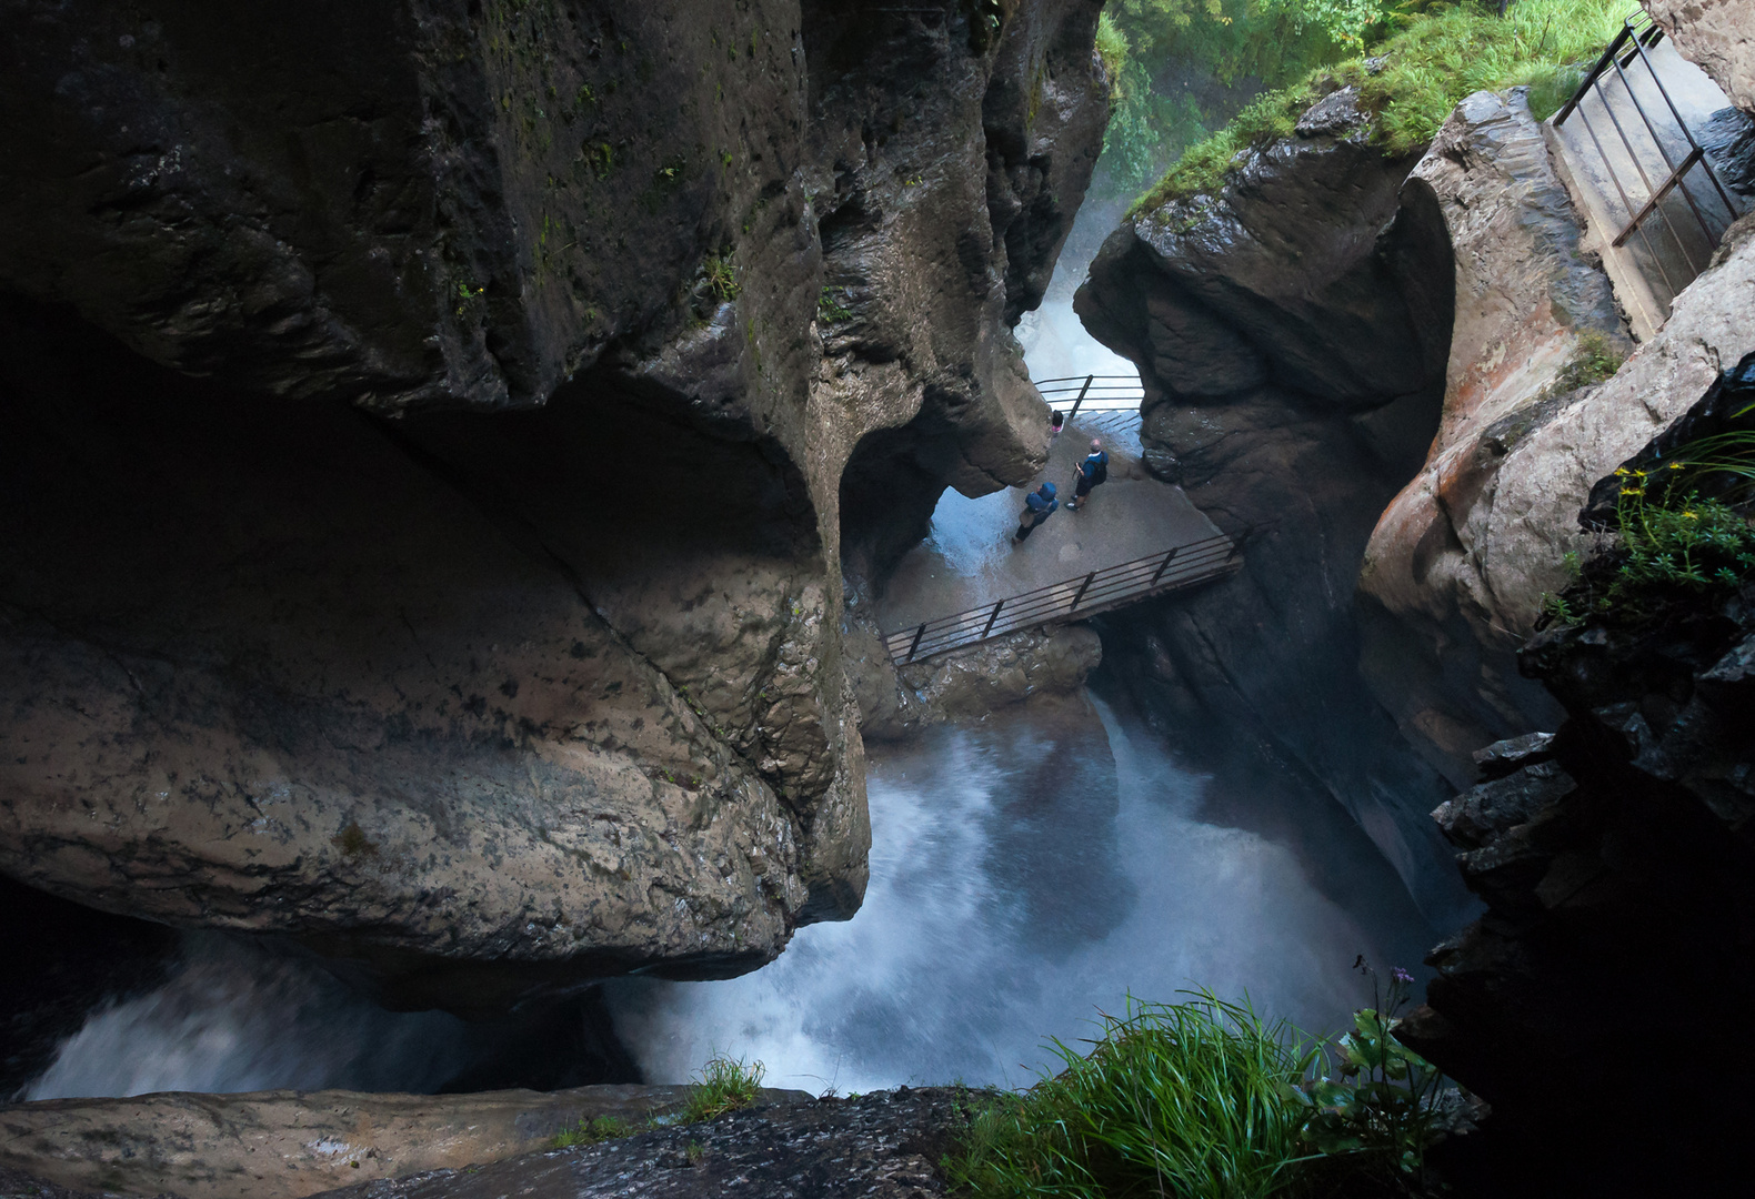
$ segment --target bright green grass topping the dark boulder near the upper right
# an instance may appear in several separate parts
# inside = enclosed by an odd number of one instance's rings
[[[1529,86],[1530,110],[1543,121],[1578,86],[1578,63],[1602,53],[1625,14],[1623,0],[1518,0],[1502,18],[1478,5],[1409,16],[1400,33],[1371,49],[1372,68],[1360,54],[1265,93],[1192,145],[1130,214],[1223,186],[1243,151],[1290,137],[1304,109],[1344,86],[1358,88],[1360,105],[1372,116],[1369,137],[1390,154],[1430,142],[1457,102],[1474,91]]]

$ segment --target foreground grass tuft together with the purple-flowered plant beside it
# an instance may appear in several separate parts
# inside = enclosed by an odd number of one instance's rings
[[[1418,1192],[1441,1080],[1393,1034],[1409,982],[1332,1045],[1211,992],[1130,1001],[1090,1054],[1057,1039],[1058,1075],[978,1103],[944,1171],[979,1199]]]

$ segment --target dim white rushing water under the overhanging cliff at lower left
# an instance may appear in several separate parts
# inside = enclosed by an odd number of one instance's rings
[[[465,1061],[465,1024],[391,1013],[319,968],[190,934],[172,978],[95,1011],[21,1097],[154,1090],[432,1090]]]

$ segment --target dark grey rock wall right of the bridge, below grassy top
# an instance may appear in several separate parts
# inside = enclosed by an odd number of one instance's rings
[[[1104,649],[1143,706],[1211,729],[1197,743],[1334,794],[1443,920],[1460,889],[1425,812],[1448,789],[1360,678],[1353,587],[1437,422],[1453,270],[1434,207],[1402,196],[1415,160],[1371,147],[1348,100],[1125,223],[1079,289],[1141,368],[1148,459],[1244,536],[1237,577],[1106,617]]]

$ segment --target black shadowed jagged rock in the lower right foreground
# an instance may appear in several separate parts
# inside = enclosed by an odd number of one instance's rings
[[[1695,1027],[1755,999],[1732,948],[1755,938],[1751,661],[1748,587],[1537,633],[1520,664],[1565,722],[1483,750],[1488,782],[1434,812],[1488,910],[1427,959],[1437,978],[1406,1039],[1492,1103],[1483,1145],[1530,1164],[1532,1192],[1564,1174],[1606,1194],[1720,1194],[1741,1174],[1736,1129],[1755,1117],[1741,1041],[1662,1054],[1637,1110],[1616,1090],[1618,1055],[1678,996]],[[1662,1148],[1629,1155],[1632,1138]]]

